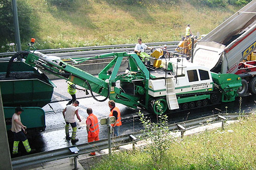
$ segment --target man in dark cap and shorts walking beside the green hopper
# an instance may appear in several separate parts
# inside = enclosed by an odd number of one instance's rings
[[[20,114],[22,114],[24,110],[20,107],[15,108],[15,113],[12,116],[12,128],[11,131],[14,136],[14,142],[13,142],[13,150],[12,154],[13,156],[17,156],[20,153],[18,153],[18,143],[19,141],[22,141],[26,152],[27,153],[34,153],[35,149],[31,149],[29,145],[29,141],[26,137],[26,129],[27,127],[22,124],[22,121],[20,119]]]

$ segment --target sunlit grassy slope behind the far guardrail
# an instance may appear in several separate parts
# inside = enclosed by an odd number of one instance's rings
[[[36,46],[39,49],[176,41],[184,35],[187,23],[194,34],[206,34],[239,8],[175,4],[131,6],[104,0],[77,0],[72,7],[59,8],[46,1],[29,1],[34,8]],[[30,39],[30,37],[28,37]],[[22,40],[23,48],[27,41]]]

